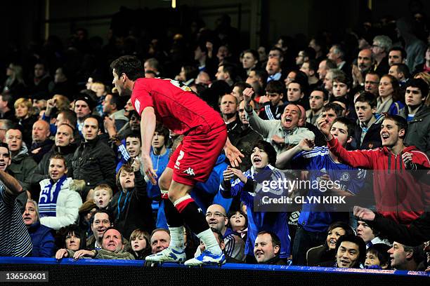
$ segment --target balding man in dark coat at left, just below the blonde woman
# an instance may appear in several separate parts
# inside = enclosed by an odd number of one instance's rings
[[[49,123],[44,120],[38,120],[34,122],[32,129],[32,147],[30,148],[30,156],[33,157],[36,163],[41,161],[41,158],[49,150],[51,150],[54,144],[53,140],[49,139]]]

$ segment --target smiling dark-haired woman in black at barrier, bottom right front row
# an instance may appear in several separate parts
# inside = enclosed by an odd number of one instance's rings
[[[340,236],[353,235],[354,231],[351,226],[344,222],[334,222],[327,231],[327,238],[323,245],[313,247],[306,253],[308,266],[319,266],[321,263],[336,260],[335,250],[336,243]]]

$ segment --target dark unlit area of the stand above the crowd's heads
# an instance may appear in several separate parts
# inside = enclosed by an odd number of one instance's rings
[[[417,7],[416,2],[422,4],[419,11],[430,11],[430,1],[400,0],[177,0],[176,9],[166,0],[2,1],[0,49],[4,55],[14,46],[25,47],[49,34],[67,39],[77,27],[85,27],[89,36],[100,36],[106,41],[111,16],[121,6],[147,12],[144,16],[147,19],[139,20],[150,19],[146,22],[150,29],[186,26],[197,17],[214,29],[216,20],[227,14],[231,25],[239,29],[244,46],[256,48],[273,43],[282,34],[311,36],[321,30],[354,29],[363,20],[375,22],[386,15],[394,18],[410,15],[410,6]]]

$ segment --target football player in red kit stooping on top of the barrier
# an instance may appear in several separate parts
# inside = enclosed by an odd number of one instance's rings
[[[196,182],[205,182],[222,149],[233,166],[243,156],[227,137],[226,123],[188,86],[171,79],[145,79],[137,57],[124,55],[110,65],[112,81],[119,95],[131,95],[134,109],[141,115],[143,170],[152,184],[157,175],[152,168],[150,147],[155,123],[160,121],[171,131],[185,135],[172,154],[159,179],[160,189],[168,189],[164,202],[171,242],[162,252],[146,257],[147,261],[185,261],[183,224],[187,224],[205,245],[200,257],[185,265],[223,264],[225,257],[199,207],[189,193]],[[161,182],[168,182],[162,186]]]

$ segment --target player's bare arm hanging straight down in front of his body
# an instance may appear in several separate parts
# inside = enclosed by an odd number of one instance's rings
[[[150,156],[152,137],[155,132],[155,111],[153,107],[145,107],[141,114],[141,136],[142,136],[142,164],[143,172],[150,179],[152,184],[157,184],[157,174],[152,168],[152,160]]]

